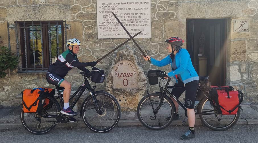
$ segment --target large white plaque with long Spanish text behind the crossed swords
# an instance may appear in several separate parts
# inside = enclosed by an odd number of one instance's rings
[[[129,38],[112,12],[131,35],[150,38],[150,6],[150,0],[97,0],[98,38]]]

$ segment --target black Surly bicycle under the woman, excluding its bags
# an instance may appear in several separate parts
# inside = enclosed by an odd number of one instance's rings
[[[153,130],[160,130],[171,124],[176,113],[176,107],[170,97],[185,110],[186,117],[187,109],[183,106],[183,103],[168,91],[172,88],[184,87],[169,86],[171,78],[168,77],[165,88],[163,88],[161,86],[161,81],[165,79],[164,77],[167,77],[166,72],[156,71],[157,76],[161,78],[159,81],[160,92],[149,94],[147,91],[147,95],[144,96],[138,104],[137,116],[145,127]],[[222,131],[234,126],[240,116],[240,110],[238,109],[236,115],[222,115],[221,111],[216,108],[209,96],[209,76],[199,76],[199,78],[200,83],[198,92],[201,92],[203,98],[195,106],[195,115],[199,115],[202,123],[212,130]],[[170,97],[168,95],[170,95]],[[167,117],[169,117],[169,120],[167,120]],[[182,121],[183,125],[186,125],[187,119],[188,118]]]

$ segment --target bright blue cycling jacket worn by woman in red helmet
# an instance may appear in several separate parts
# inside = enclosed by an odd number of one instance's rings
[[[163,67],[170,64],[170,67],[172,69],[172,59],[170,58],[170,55],[168,55],[161,61],[157,61],[153,58],[150,58],[150,61],[153,65],[158,67]],[[193,80],[199,80],[199,76],[193,67],[190,55],[186,49],[180,49],[176,53],[176,66],[177,69],[175,71],[172,70],[171,72],[168,72],[169,77],[174,76],[174,78],[176,78],[175,75],[180,74],[184,84]]]

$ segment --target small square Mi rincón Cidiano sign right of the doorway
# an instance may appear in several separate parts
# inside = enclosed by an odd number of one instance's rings
[[[234,32],[249,32],[249,19],[234,19]]]

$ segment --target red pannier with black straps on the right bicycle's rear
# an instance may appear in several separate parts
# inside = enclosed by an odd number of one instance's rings
[[[217,109],[220,109],[222,115],[236,115],[241,102],[243,93],[239,90],[233,91],[231,86],[217,87],[212,86],[211,98]]]

